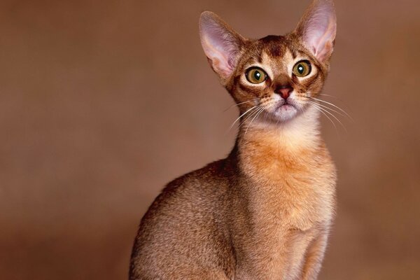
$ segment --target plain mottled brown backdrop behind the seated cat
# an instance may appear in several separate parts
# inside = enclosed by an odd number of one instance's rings
[[[0,279],[127,279],[165,183],[223,158],[237,112],[201,50],[213,10],[283,34],[309,1],[1,1]],[[320,279],[419,279],[420,5],[337,0],[323,118],[339,210]]]

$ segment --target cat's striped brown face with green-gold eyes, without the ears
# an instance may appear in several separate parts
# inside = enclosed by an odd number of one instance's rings
[[[241,111],[258,106],[260,116],[283,122],[306,109],[327,71],[293,36],[267,36],[244,45],[226,87]]]

